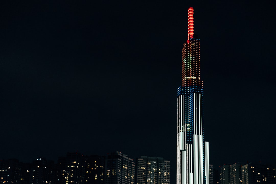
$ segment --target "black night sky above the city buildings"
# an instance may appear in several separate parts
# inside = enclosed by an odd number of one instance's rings
[[[118,150],[171,161],[173,183],[190,6],[210,163],[276,164],[268,1],[1,1],[0,158]]]

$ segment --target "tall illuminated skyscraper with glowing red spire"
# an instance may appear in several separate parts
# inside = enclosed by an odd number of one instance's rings
[[[200,41],[188,9],[188,40],[182,49],[182,86],[177,90],[177,184],[209,184],[209,146],[203,137]]]

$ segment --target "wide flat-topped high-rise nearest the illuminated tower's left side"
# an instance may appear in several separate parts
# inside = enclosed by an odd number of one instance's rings
[[[170,183],[170,161],[164,158],[140,156],[135,171],[136,184]]]

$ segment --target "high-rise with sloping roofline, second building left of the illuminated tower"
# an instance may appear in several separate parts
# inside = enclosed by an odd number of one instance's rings
[[[135,162],[119,151],[108,154],[105,159],[105,184],[133,184]]]

